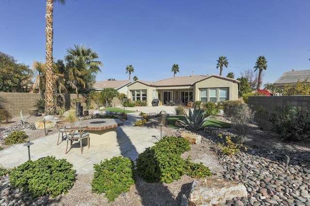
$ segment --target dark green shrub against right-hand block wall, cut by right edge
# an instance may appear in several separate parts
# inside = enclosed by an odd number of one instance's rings
[[[310,114],[307,109],[293,106],[276,106],[269,121],[279,138],[286,141],[307,140],[310,136]]]

